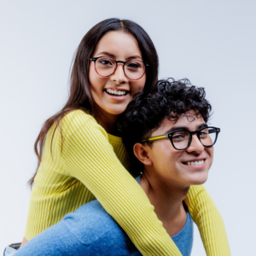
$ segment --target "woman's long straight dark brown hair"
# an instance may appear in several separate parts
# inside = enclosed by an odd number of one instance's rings
[[[70,113],[76,109],[84,109],[86,113],[90,113],[96,117],[97,106],[90,90],[89,59],[92,57],[92,54],[96,49],[96,44],[100,41],[104,34],[110,31],[129,32],[134,38],[137,39],[139,49],[143,55],[143,61],[148,63],[144,90],[147,90],[156,83],[158,79],[159,67],[158,55],[156,49],[154,48],[153,42],[149,38],[147,32],[145,32],[141,26],[131,20],[119,20],[114,18],[102,20],[96,24],[96,26],[93,26],[90,31],[85,34],[73,59],[73,68],[70,78],[70,93],[67,103],[60,112],[56,113],[54,116],[50,117],[44,122],[44,125],[34,144],[34,150],[38,156],[38,167],[42,160],[45,137],[52,125],[56,124],[55,129],[60,127],[61,119],[67,113]],[[37,171],[28,182],[30,185],[32,185],[34,181],[34,178],[38,172],[38,167]]]

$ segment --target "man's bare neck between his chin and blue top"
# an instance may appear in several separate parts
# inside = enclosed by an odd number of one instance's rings
[[[150,172],[143,173],[141,186],[167,233],[174,236],[183,229],[187,220],[183,200],[189,192],[189,187],[180,188],[177,184],[166,184],[148,173]]]

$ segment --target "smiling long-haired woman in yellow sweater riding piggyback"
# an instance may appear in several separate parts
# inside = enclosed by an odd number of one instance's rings
[[[181,255],[126,171],[130,161],[117,137],[119,115],[157,79],[158,55],[141,26],[108,19],[87,32],[73,62],[67,104],[46,120],[35,143],[38,170],[30,181],[22,244],[96,198],[143,255]],[[207,254],[228,255],[224,224],[206,189],[189,189],[187,199]]]

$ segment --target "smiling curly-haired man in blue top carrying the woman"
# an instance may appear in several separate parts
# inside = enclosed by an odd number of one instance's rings
[[[122,124],[133,155],[131,173],[183,255],[190,255],[193,223],[186,207],[190,185],[207,181],[219,128],[209,127],[211,105],[188,80],[160,80],[130,103]],[[121,178],[121,177],[120,177]],[[118,206],[116,206],[118,207]],[[159,228],[162,228],[160,225]],[[67,214],[29,241],[18,255],[141,255],[99,201]]]

